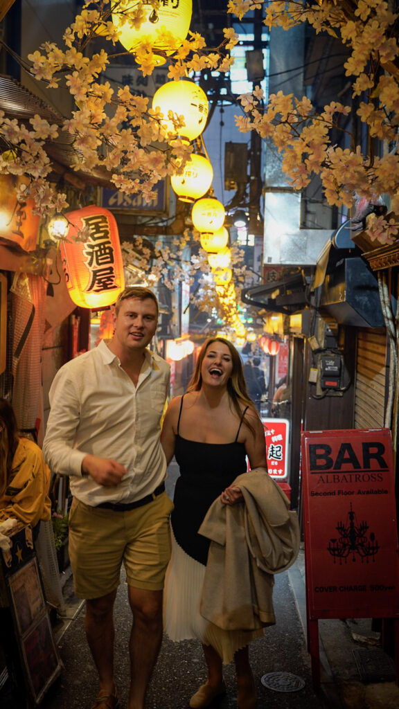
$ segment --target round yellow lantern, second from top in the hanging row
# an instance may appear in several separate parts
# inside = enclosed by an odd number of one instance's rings
[[[201,135],[207,123],[208,99],[194,82],[182,80],[160,86],[153,96],[153,109],[157,108],[163,113],[162,123],[168,133],[179,135],[188,143]],[[170,112],[174,118],[182,116],[184,125],[175,128],[169,117]]]

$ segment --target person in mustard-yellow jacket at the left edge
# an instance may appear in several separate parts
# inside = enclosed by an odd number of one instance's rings
[[[48,497],[50,470],[33,441],[18,437],[15,414],[9,401],[0,398],[0,525],[13,518],[33,528],[51,517]]]

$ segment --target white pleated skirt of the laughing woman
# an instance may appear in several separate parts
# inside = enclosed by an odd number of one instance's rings
[[[205,566],[192,559],[177,544],[173,531],[172,555],[165,577],[163,624],[170,640],[197,638],[204,645],[212,645],[224,664],[229,664],[234,653],[246,647],[263,630],[222,630],[200,614],[202,584]]]

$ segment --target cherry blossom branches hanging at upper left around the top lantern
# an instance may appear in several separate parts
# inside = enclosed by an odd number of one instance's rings
[[[28,55],[33,76],[45,82],[48,89],[67,89],[75,101],[75,110],[58,124],[50,124],[34,116],[30,128],[16,119],[0,113],[0,135],[9,146],[0,156],[0,173],[25,175],[30,181],[29,191],[38,213],[47,216],[59,208],[66,208],[65,195],[57,196],[50,181],[51,162],[45,152],[45,143],[59,140],[62,133],[72,141],[74,159],[70,167],[84,169],[97,177],[110,180],[126,194],[140,193],[145,201],[153,199],[153,187],[170,174],[181,172],[190,157],[192,145],[173,138],[148,99],[131,93],[129,86],[118,91],[111,88],[102,74],[112,57],[104,48],[92,54],[89,43],[102,35],[111,50],[120,30],[111,21],[112,14],[124,13],[124,1],[88,1],[75,21],[63,35],[65,47],[46,42],[40,50]],[[159,0],[151,0],[154,7]],[[131,10],[129,22],[133,27],[143,21],[143,2]],[[207,50],[199,33],[189,33],[173,57],[168,57],[170,80],[187,77],[190,72],[212,68],[226,72],[232,59],[226,50],[236,43],[233,30],[224,30],[225,40],[217,50]],[[168,40],[168,38],[165,38]],[[151,74],[156,57],[151,45],[142,43],[135,53],[141,72]],[[175,128],[184,125],[182,116],[173,114]]]

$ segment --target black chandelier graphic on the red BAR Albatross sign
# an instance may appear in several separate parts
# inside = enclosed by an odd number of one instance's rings
[[[374,532],[370,532],[369,537],[366,536],[368,524],[366,521],[358,523],[354,510],[351,508],[346,518],[346,524],[339,522],[335,527],[339,533],[338,539],[330,539],[327,547],[329,553],[335,559],[339,559],[339,564],[342,564],[342,559],[346,560],[352,555],[352,562],[356,562],[356,557],[361,558],[363,564],[364,559],[368,564],[368,559],[373,559],[380,548],[376,540]]]

